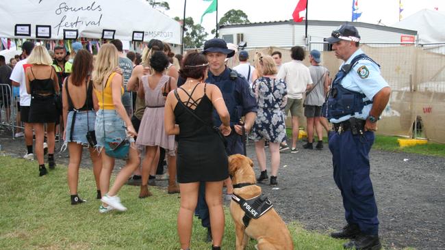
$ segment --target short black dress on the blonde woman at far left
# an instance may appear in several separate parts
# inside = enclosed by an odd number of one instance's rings
[[[31,73],[34,79],[29,81],[31,88],[31,105],[29,106],[29,123],[52,123],[58,122],[58,113],[55,109],[55,88],[53,75],[53,66],[51,74],[47,79],[36,79],[34,72]]]

